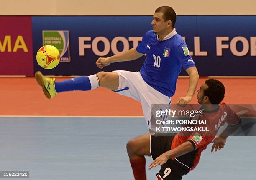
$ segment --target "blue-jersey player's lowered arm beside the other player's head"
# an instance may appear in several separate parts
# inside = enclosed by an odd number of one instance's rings
[[[177,101],[178,105],[184,105],[189,103],[192,100],[195,94],[195,90],[197,88],[197,82],[199,79],[197,68],[189,67],[186,69],[186,72],[189,75],[189,88],[187,90],[187,95],[185,97],[180,97],[179,100]]]

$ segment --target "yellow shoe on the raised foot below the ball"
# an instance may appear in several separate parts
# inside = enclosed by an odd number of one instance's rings
[[[38,84],[42,87],[44,95],[48,99],[52,99],[57,94],[54,84],[55,78],[44,77],[40,71],[36,72],[35,77]]]

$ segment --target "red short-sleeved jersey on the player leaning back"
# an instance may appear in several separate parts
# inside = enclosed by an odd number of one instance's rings
[[[173,158],[190,168],[190,170],[193,170],[199,163],[201,152],[214,140],[220,127],[225,123],[228,123],[229,125],[237,125],[241,122],[238,115],[224,103],[220,104],[214,111],[204,111],[203,115],[198,119],[206,120],[205,126],[208,127],[208,132],[192,132],[190,134],[187,132],[179,132],[174,137],[171,145],[171,149],[174,149],[187,141],[190,141],[194,145],[194,151]]]

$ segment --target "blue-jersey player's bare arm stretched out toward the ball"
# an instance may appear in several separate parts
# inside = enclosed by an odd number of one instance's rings
[[[118,55],[113,55],[111,57],[106,57],[106,58],[100,57],[96,61],[96,65],[97,65],[97,67],[102,69],[103,67],[108,66],[111,63],[136,60],[143,55],[144,54],[137,52],[136,47],[134,47],[134,48],[131,48],[128,51],[122,52]]]

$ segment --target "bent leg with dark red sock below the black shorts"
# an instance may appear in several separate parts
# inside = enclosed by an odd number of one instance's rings
[[[150,154],[150,134],[133,138],[126,145],[135,180],[146,180],[146,159]]]

